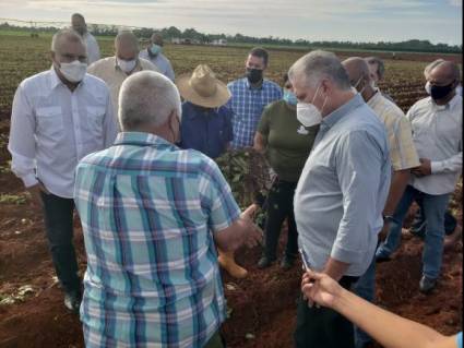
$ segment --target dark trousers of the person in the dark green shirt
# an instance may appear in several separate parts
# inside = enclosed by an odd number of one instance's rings
[[[288,238],[285,254],[287,257],[298,255],[298,232],[294,215],[294,195],[297,182],[274,181],[267,195],[267,220],[264,233],[264,255],[270,260],[276,259],[278,238],[282,224],[287,218]]]

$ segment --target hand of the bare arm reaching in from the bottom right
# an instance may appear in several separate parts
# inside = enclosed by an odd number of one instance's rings
[[[343,288],[324,273],[307,271],[301,279],[301,291],[308,300],[333,308],[335,301],[340,299]]]

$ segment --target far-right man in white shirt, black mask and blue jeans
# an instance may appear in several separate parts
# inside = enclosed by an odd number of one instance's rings
[[[406,117],[421,163],[394,213],[386,240],[376,253],[384,261],[397,249],[403,219],[413,201],[421,200],[427,220],[423,252],[421,292],[430,292],[440,276],[444,239],[444,213],[463,166],[463,99],[456,95],[460,80],[457,65],[441,61],[426,69],[426,91],[430,95],[412,106]]]

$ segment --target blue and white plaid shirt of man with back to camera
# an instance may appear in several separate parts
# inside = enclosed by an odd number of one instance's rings
[[[213,233],[240,209],[215,163],[120,133],[79,164],[86,347],[203,347],[225,319]]]

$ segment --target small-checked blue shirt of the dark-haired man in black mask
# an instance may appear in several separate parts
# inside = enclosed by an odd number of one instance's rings
[[[230,82],[227,87],[231,93],[227,106],[234,113],[231,147],[252,146],[264,107],[282,99],[282,88],[269,80],[264,80],[260,88],[251,88],[246,77]]]

